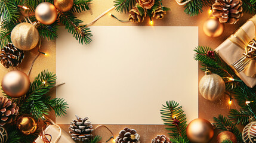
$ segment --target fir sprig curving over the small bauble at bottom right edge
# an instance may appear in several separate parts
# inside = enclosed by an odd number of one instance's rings
[[[216,122],[217,129],[234,133],[238,141],[242,142],[242,133],[239,132],[239,129],[236,128],[236,125],[227,119],[227,117],[219,115],[218,118],[214,117],[214,121]]]

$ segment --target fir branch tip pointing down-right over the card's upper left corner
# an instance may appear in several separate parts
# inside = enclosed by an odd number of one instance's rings
[[[91,43],[91,31],[90,28],[85,25],[79,26],[83,21],[77,19],[72,13],[60,13],[60,22],[65,25],[65,28],[69,33],[73,34],[73,37],[78,40],[79,43]]]

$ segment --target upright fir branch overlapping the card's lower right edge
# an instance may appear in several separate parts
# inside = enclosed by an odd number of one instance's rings
[[[187,121],[186,114],[184,114],[182,106],[179,106],[179,104],[175,101],[166,101],[166,105],[163,105],[162,110],[160,111],[164,124],[169,126],[169,128],[166,128],[166,130],[171,131],[171,133],[168,133],[171,138],[181,137],[185,139],[185,141],[187,141]],[[173,123],[174,117],[176,117],[177,120],[180,121],[180,124],[175,125]]]

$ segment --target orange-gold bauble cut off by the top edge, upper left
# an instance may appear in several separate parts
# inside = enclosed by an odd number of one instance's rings
[[[66,12],[73,7],[73,0],[54,0],[54,5],[57,10]]]

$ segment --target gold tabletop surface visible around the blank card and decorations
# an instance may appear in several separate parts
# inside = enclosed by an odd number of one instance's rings
[[[208,38],[203,33],[203,22],[209,17],[208,11],[209,7],[203,8],[203,13],[199,14],[195,17],[190,17],[186,13],[184,13],[184,7],[178,5],[175,1],[163,1],[163,5],[166,7],[171,8],[171,11],[168,11],[165,17],[162,20],[155,20],[153,19],[154,26],[198,26],[199,27],[199,45],[209,46],[213,49],[217,48],[220,43],[222,43],[225,39],[227,39],[236,29],[242,26],[246,20],[252,17],[252,15],[245,14],[242,18],[238,21],[235,25],[225,24],[224,26],[224,33],[219,38]],[[94,18],[98,17],[101,13],[108,10],[109,8],[113,7],[113,0],[94,0],[90,5],[91,10],[85,11],[83,13],[76,14],[78,18],[84,21],[84,24],[90,23]],[[113,15],[118,17],[121,20],[128,20],[128,14],[120,14],[116,11],[111,11]],[[149,18],[146,18],[143,23],[121,23],[110,15],[104,15],[100,20],[95,22],[93,26],[149,26]],[[93,34],[93,31],[92,31]],[[160,35],[159,35],[160,36]],[[100,41],[93,41],[93,42],[100,42]],[[132,42],[132,41],[131,41]],[[140,41],[137,39],[137,42],[145,42]],[[33,82],[35,76],[38,75],[42,70],[48,71],[56,71],[56,43],[55,41],[42,41],[41,51],[46,52],[48,55],[40,55],[36,60],[32,72],[30,74],[30,81]],[[70,47],[70,50],[75,50],[75,47]],[[191,49],[193,50],[193,49]],[[37,49],[32,49],[31,51],[25,52],[25,58],[23,63],[20,64],[18,67],[10,67],[10,69],[5,69],[4,67],[0,66],[0,80],[5,73],[11,70],[21,70],[27,73],[30,68],[30,64],[33,61],[37,54]],[[175,54],[175,53],[174,53]],[[232,54],[232,53],[230,53]],[[67,57],[68,58],[68,57]],[[71,60],[71,59],[70,59]],[[186,65],[184,65],[186,66]],[[200,66],[199,66],[200,67]],[[189,72],[189,69],[187,70]],[[202,78],[204,73],[199,70],[199,81]],[[184,89],[186,89],[186,81],[184,81]],[[50,95],[55,97],[55,90],[50,92]],[[172,100],[172,99],[169,99]],[[229,111],[229,97],[221,98],[218,101],[207,101],[205,100],[200,94],[198,96],[199,100],[199,117],[209,120],[210,122],[213,121],[213,117],[218,116],[218,114],[227,115]],[[164,103],[165,101],[163,101]],[[232,108],[235,108],[234,104]],[[82,109],[81,109],[82,110]],[[185,111],[186,113],[186,111]],[[189,114],[189,113],[186,113]],[[51,115],[54,118],[54,115]],[[75,119],[75,115],[74,115]],[[97,125],[94,125],[94,127]],[[124,129],[125,127],[130,129],[135,129],[140,134],[141,143],[149,143],[156,135],[167,135],[168,131],[165,130],[164,125],[107,125],[109,129],[113,131],[116,136],[120,130]],[[64,130],[68,130],[68,125],[61,125]],[[103,141],[106,141],[111,135],[107,130],[104,128],[100,128],[97,130],[97,133],[103,136]],[[215,136],[217,133],[215,133]],[[111,142],[111,141],[110,141]],[[112,140],[113,142],[113,140]],[[214,139],[211,142],[215,142]]]

